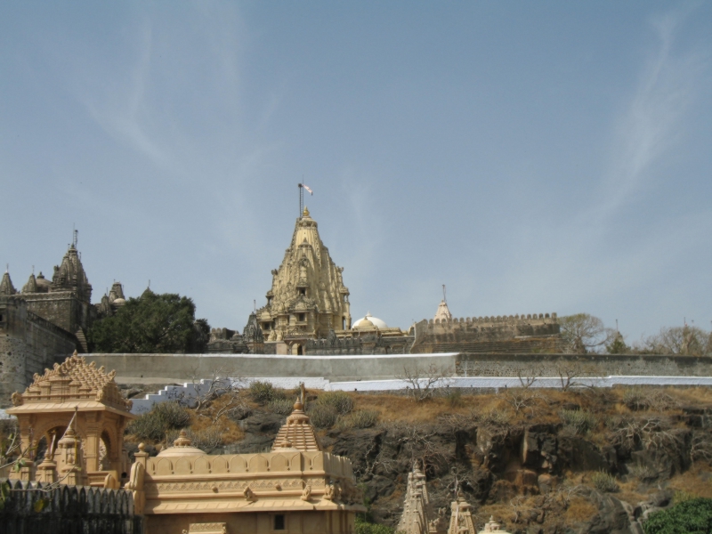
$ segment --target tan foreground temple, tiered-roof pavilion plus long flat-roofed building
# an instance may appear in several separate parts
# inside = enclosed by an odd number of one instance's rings
[[[351,461],[325,452],[309,416],[304,389],[269,452],[207,455],[181,431],[173,447],[150,457],[143,444],[128,459],[125,425],[131,401],[114,372],[75,353],[35,375],[12,395],[20,425],[20,469],[11,479],[131,492],[145,534],[352,534],[365,512]],[[40,440],[47,447],[35,464]]]

